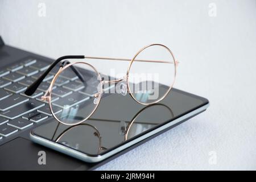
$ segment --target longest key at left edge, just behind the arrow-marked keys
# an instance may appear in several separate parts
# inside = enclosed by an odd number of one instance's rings
[[[23,104],[20,104],[16,107],[13,107],[6,111],[1,111],[0,116],[8,118],[8,119],[15,119],[20,117],[21,115],[30,113],[33,110],[39,109],[43,107],[45,104],[43,102],[39,102],[36,100],[30,100]]]

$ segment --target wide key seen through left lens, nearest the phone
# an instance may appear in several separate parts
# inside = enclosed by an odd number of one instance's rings
[[[88,100],[90,97],[85,96],[84,94],[81,93],[73,93],[68,97],[60,98],[59,100],[52,102],[52,105],[58,106],[61,108],[69,108],[73,107],[75,105],[78,105],[86,100]]]

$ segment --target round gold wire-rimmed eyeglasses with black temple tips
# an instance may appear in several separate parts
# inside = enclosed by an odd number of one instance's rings
[[[101,77],[92,65],[76,59],[129,61],[126,75]],[[96,111],[102,94],[114,84],[115,92],[125,95],[142,105],[155,104],[164,99],[175,82],[177,64],[172,51],[162,44],[151,44],[140,49],[132,59],[90,56],[63,56],[54,61],[25,94],[31,96],[44,78],[60,64],[43,101],[48,101],[53,117],[64,125],[78,125]],[[110,78],[110,79],[109,79]],[[55,97],[59,97],[55,100]],[[121,104],[120,104],[121,106]],[[110,106],[116,107],[116,106]]]

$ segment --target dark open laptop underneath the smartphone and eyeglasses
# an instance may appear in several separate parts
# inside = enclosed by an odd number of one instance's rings
[[[82,160],[73,158],[57,152],[48,147],[36,144],[31,141],[30,133],[32,130],[42,126],[51,126],[53,119],[49,106],[45,101],[40,100],[44,92],[48,89],[49,82],[55,76],[58,67],[53,69],[53,71],[44,79],[42,84],[36,90],[32,96],[27,96],[24,94],[24,90],[32,84],[42,73],[49,67],[52,63],[52,59],[48,57],[40,56],[35,53],[23,51],[15,47],[7,46],[0,36],[0,170],[92,170],[103,164],[117,158],[120,155],[125,154],[127,151],[139,146],[140,144],[147,142],[157,135],[163,133],[164,131],[171,129],[179,125],[180,123],[187,121],[189,118],[194,117],[199,113],[194,113],[190,117],[183,118],[179,123],[175,123],[165,130],[159,131],[158,133],[151,135],[151,137],[145,138],[142,141],[133,144],[132,146],[126,148],[125,150],[119,151],[117,154],[110,156],[109,158],[96,163],[86,163]],[[60,83],[60,87],[65,84],[65,82],[72,81],[72,77],[65,77],[63,79],[63,84]],[[67,86],[66,89],[69,89]],[[70,88],[72,89],[72,88]],[[189,98],[199,97],[195,96],[181,90],[174,89],[172,92],[176,96],[189,96]],[[182,105],[176,104],[174,102],[180,102],[176,99],[172,103],[168,100],[165,101],[166,105],[169,105],[174,110],[179,110]],[[177,97],[176,97],[177,98]],[[57,100],[58,97],[52,98]],[[122,103],[129,101],[129,96],[122,97]],[[170,100],[173,100],[170,97]],[[120,101],[119,96],[113,97],[111,102]],[[185,99],[188,101],[188,99]],[[122,105],[124,110],[129,110],[129,112],[119,112],[122,114],[107,115],[104,114],[105,110],[109,110],[110,101],[103,101],[100,109],[97,113],[93,115],[93,119],[98,119],[98,121],[110,121],[114,119],[114,125],[120,125],[123,119],[129,120],[129,118],[134,117],[136,109],[141,110],[141,107],[137,107],[135,102],[133,104]],[[192,102],[192,101],[191,101]],[[118,102],[117,102],[118,103]],[[128,102],[127,102],[128,103]],[[208,105],[208,100],[200,102],[200,104]],[[187,106],[189,104],[186,104]],[[195,107],[196,108],[196,107]],[[205,107],[206,109],[206,107]],[[204,110],[205,110],[204,109]],[[204,110],[200,111],[203,112]],[[187,110],[186,113],[192,110]],[[102,113],[102,114],[101,114]],[[131,114],[132,113],[132,114]],[[26,119],[28,122],[22,122]],[[157,119],[157,117],[156,117]],[[171,118],[170,118],[171,119]],[[113,121],[113,120],[112,120]],[[116,122],[120,121],[120,122]],[[106,122],[105,122],[106,123]],[[152,123],[151,123],[152,124]],[[142,126],[142,125],[141,125]],[[45,127],[47,129],[47,127]],[[144,126],[144,128],[148,127]],[[106,127],[105,127],[106,128]],[[41,130],[42,135],[47,133],[46,129]],[[52,129],[52,127],[47,130]],[[46,136],[44,136],[47,138]],[[48,136],[50,137],[50,136]],[[116,138],[112,136],[113,138]],[[105,142],[108,144],[108,141]],[[47,156],[46,164],[39,162],[42,152]]]

